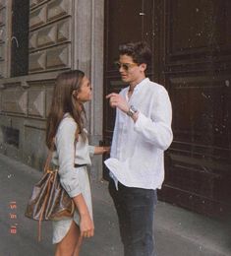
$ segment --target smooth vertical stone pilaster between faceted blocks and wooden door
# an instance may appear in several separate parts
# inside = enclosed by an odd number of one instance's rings
[[[104,0],[75,1],[73,67],[83,70],[90,79],[93,97],[86,105],[89,141],[97,145],[102,140],[103,114],[103,20]],[[94,158],[91,176],[102,176],[102,159]]]

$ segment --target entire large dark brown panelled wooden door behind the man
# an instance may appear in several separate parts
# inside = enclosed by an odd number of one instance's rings
[[[106,1],[104,94],[124,86],[113,68],[118,44],[146,39],[152,80],[169,92],[174,142],[159,198],[224,216],[231,195],[231,2]],[[104,103],[104,139],[114,112]]]

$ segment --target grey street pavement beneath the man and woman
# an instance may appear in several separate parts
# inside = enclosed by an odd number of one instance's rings
[[[52,256],[52,225],[24,213],[32,186],[41,172],[0,155],[0,256]],[[91,181],[95,235],[83,245],[81,256],[123,256],[118,222],[106,181]],[[158,256],[231,256],[229,224],[158,202],[154,235]]]

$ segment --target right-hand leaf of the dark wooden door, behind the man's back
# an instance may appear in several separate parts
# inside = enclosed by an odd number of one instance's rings
[[[173,105],[174,142],[159,196],[221,217],[231,205],[230,1],[166,0],[161,9],[160,84]]]

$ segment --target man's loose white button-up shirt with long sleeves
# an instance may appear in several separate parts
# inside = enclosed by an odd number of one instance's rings
[[[120,92],[138,111],[136,122],[116,110],[110,158],[110,174],[128,187],[161,188],[164,180],[164,151],[170,146],[172,107],[167,91],[145,78],[128,98],[129,87]]]

